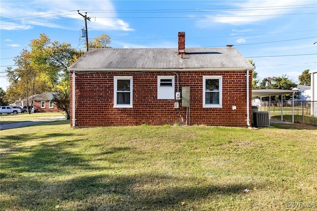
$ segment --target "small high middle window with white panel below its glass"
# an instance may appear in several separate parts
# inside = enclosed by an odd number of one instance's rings
[[[158,99],[174,100],[174,76],[158,76]]]

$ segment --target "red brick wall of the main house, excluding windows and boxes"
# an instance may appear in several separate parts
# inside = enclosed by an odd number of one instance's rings
[[[190,124],[247,126],[246,71],[177,71],[179,90],[190,87]],[[157,99],[157,76],[171,72],[99,72],[76,74],[75,126],[164,125],[186,123],[186,107],[181,101]],[[222,76],[222,108],[203,108],[203,76]],[[251,81],[249,73],[251,118]],[[133,108],[113,107],[113,76],[133,76]],[[71,77],[72,79],[72,73]],[[72,125],[72,81],[71,81]],[[174,108],[174,102],[180,108]],[[232,110],[231,106],[237,106]],[[182,118],[183,117],[183,121]],[[251,123],[251,120],[250,120]]]

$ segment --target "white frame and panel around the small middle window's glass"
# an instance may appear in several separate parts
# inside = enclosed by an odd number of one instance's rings
[[[162,79],[172,79],[172,86],[161,86]],[[158,76],[158,99],[175,100],[175,76],[173,75],[159,75]]]

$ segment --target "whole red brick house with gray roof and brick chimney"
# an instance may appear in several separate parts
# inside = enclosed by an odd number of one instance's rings
[[[91,49],[73,63],[73,127],[251,124],[254,66],[235,48]]]

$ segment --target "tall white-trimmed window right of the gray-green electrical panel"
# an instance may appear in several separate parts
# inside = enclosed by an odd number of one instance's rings
[[[203,107],[222,107],[222,76],[203,76]]]

